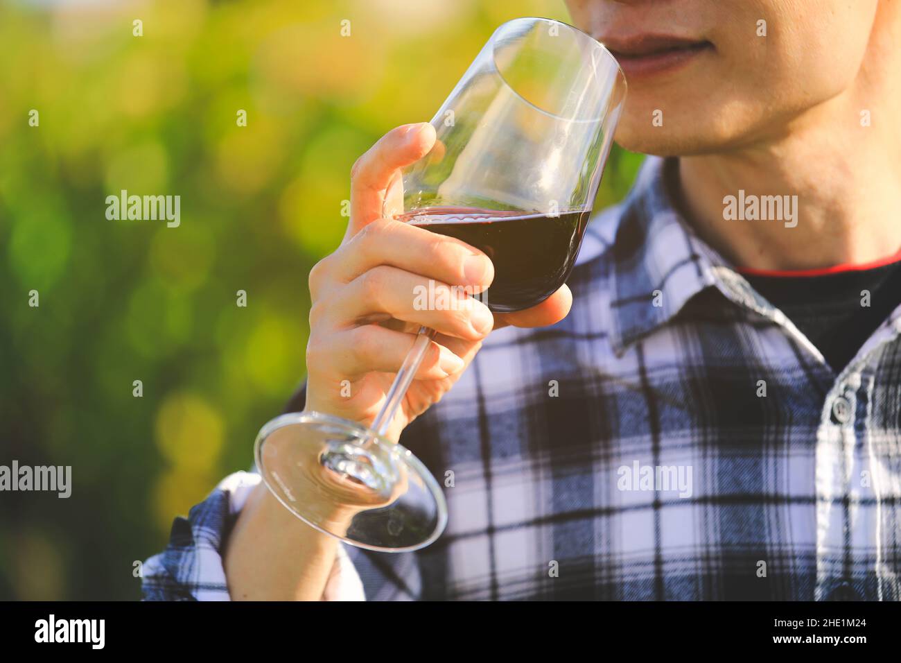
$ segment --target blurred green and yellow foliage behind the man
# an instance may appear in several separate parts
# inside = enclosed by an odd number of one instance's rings
[[[0,5],[0,465],[74,483],[0,493],[0,599],[140,595],[134,563],[250,466],[303,378],[307,272],[353,161],[522,15],[567,20],[560,0]],[[598,204],[640,161],[614,152]],[[181,225],[107,220],[121,189],[179,195]]]

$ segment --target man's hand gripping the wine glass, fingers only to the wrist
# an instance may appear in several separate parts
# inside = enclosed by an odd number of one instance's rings
[[[407,124],[359,158],[351,171],[344,241],[310,274],[308,410],[369,426],[416,330],[424,325],[438,331],[387,434],[395,440],[451,389],[492,328],[552,325],[566,316],[571,303],[563,285],[533,308],[494,318],[479,301],[452,310],[414,307],[415,286],[429,280],[436,288],[482,290],[494,277],[490,259],[469,244],[381,216],[383,206],[400,204],[399,169],[430,152],[434,140],[431,124]]]

